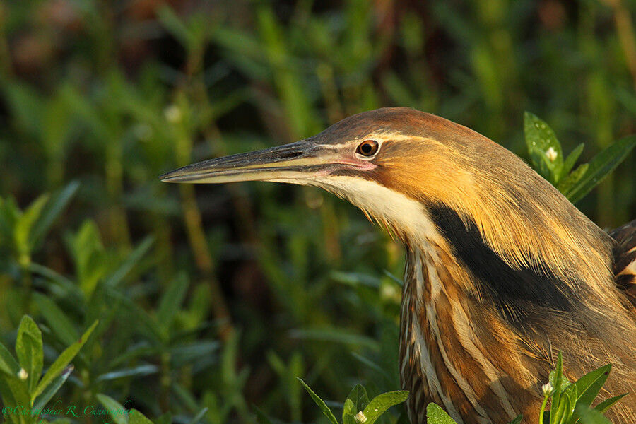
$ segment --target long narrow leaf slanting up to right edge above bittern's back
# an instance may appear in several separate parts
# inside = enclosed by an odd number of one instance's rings
[[[614,170],[619,163],[623,162],[625,157],[630,153],[632,148],[636,146],[636,135],[627,136],[613,143],[604,149],[598,155],[589,161],[587,172],[574,184],[567,192],[567,199],[575,204],[583,199],[591,189],[594,189],[603,178]]]

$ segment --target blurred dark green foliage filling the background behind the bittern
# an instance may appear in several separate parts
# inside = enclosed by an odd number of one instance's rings
[[[635,13],[621,0],[0,2],[0,341],[30,314],[46,368],[100,319],[55,399],[103,393],[163,422],[324,420],[296,377],[341,401],[358,382],[398,389],[399,245],[317,189],[158,175],[383,106],[526,160],[529,110],[566,152],[586,143],[585,162],[636,132]],[[636,218],[635,163],[577,206],[603,227]]]

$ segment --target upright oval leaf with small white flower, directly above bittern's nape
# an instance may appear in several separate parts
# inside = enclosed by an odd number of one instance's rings
[[[552,184],[558,183],[563,169],[563,151],[554,131],[536,115],[526,112],[524,134],[535,169]]]

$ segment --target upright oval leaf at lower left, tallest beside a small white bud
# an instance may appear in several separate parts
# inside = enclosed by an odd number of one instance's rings
[[[29,393],[32,393],[42,374],[44,351],[42,350],[42,332],[28,315],[22,317],[18,327],[16,354],[20,367],[28,374],[26,380]]]

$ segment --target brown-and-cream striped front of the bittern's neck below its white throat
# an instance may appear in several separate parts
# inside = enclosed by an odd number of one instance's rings
[[[476,298],[466,295],[461,287],[469,278],[466,271],[453,265],[457,262],[444,247],[434,247],[409,249],[406,263],[400,379],[412,394],[411,422],[425,422],[431,401],[460,424],[507,422],[519,413],[534,420],[541,399],[531,370],[506,366],[521,363],[510,360],[519,355],[511,343],[517,338],[497,314],[485,313]]]

